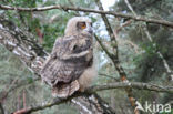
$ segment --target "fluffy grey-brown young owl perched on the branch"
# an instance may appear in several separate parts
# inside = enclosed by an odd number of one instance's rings
[[[52,95],[58,97],[68,97],[91,84],[96,75],[91,19],[74,17],[69,20],[64,37],[55,40],[40,74],[52,87]]]

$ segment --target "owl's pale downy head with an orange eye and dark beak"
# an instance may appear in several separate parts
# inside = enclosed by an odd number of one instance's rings
[[[85,17],[74,17],[68,21],[65,35],[86,34],[92,35],[92,21]]]

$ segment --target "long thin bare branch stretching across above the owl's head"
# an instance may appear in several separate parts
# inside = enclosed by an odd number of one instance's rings
[[[62,10],[65,10],[65,11],[68,11],[68,10],[83,11],[83,12],[93,12],[93,13],[100,13],[100,14],[110,14],[110,15],[114,15],[114,17],[133,19],[135,21],[145,21],[145,22],[149,22],[149,23],[163,24],[163,25],[173,28],[173,23],[169,22],[169,21],[165,21],[165,20],[150,19],[150,18],[142,17],[142,15],[134,17],[134,15],[131,15],[131,14],[124,14],[124,13],[119,13],[119,12],[114,12],[114,11],[101,11],[101,10],[77,8],[77,7],[49,6],[49,7],[42,7],[42,8],[16,8],[16,7],[9,7],[9,6],[0,4],[0,9],[3,9],[3,10],[19,10],[19,11],[47,11],[47,10],[52,10],[52,9],[62,9]]]

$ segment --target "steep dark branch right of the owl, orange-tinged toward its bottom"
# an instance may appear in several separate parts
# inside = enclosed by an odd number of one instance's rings
[[[102,7],[102,3],[100,2],[100,0],[95,0],[98,7],[100,10],[103,10],[103,7]],[[109,35],[111,38],[111,45],[112,45],[112,49],[113,49],[113,55],[110,56],[109,53],[109,58],[112,60],[114,66],[115,66],[115,70],[118,71],[119,75],[120,75],[120,79],[122,82],[129,82],[128,77],[126,77],[126,73],[124,71],[124,69],[121,66],[120,64],[120,61],[119,61],[119,49],[118,49],[118,42],[116,42],[116,39],[118,39],[118,34],[113,33],[113,30],[111,28],[111,24],[106,18],[105,14],[101,14],[102,15],[102,19],[105,23],[105,27],[106,27],[106,30],[109,32]],[[104,48],[104,46],[102,46]],[[103,49],[105,50],[105,49]],[[105,50],[106,51],[106,50]],[[135,102],[136,102],[136,99],[134,97],[133,93],[132,93],[132,87],[131,86],[126,86],[125,87],[125,92],[128,94],[128,97],[129,97],[129,101],[133,107],[133,111],[135,114],[139,114],[139,110],[135,107]]]

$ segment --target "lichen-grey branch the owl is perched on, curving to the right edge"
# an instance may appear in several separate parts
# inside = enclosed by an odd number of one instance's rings
[[[166,92],[166,93],[171,93],[171,94],[173,93],[173,86],[162,86],[162,85],[156,85],[156,84],[140,83],[140,82],[132,82],[132,83],[115,82],[115,83],[108,83],[108,84],[102,84],[102,85],[90,86],[85,90],[85,92],[83,92],[83,93],[77,92],[72,96],[67,97],[67,99],[54,99],[49,102],[43,102],[38,105],[32,105],[32,106],[26,108],[24,111],[22,110],[23,112],[21,114],[30,114],[30,113],[39,111],[39,110],[44,110],[44,108],[51,107],[53,105],[59,105],[61,103],[68,102],[71,99],[74,99],[78,96],[91,95],[92,93],[95,93],[96,91],[111,90],[111,89],[125,89],[125,87],[133,87],[133,89],[138,89],[138,90],[147,90],[147,91],[155,91],[155,92]],[[109,114],[112,114],[112,113],[109,113]]]

